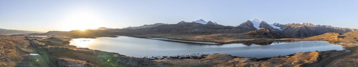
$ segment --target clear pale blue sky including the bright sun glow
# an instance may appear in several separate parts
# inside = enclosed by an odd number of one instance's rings
[[[358,29],[358,0],[0,0],[0,28],[47,32],[199,19],[236,26],[259,19]]]

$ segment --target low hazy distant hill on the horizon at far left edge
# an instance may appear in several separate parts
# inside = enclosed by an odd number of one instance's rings
[[[1,29],[0,34],[9,35],[9,34],[28,34],[28,33],[45,33],[45,32],[34,32],[27,30],[11,30],[11,29]]]

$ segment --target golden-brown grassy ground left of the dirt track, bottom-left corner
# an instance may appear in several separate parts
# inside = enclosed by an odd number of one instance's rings
[[[47,66],[40,55],[26,55],[36,53],[23,36],[0,36],[0,67],[43,67]],[[39,60],[39,61],[36,61]]]

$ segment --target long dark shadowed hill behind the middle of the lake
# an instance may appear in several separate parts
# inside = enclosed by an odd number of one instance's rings
[[[118,35],[129,34],[156,34],[156,33],[170,33],[170,34],[217,34],[217,33],[243,33],[251,30],[223,26],[216,24],[201,24],[201,23],[178,23],[165,24],[156,27],[140,28],[140,29],[108,29],[110,32],[119,32]]]

